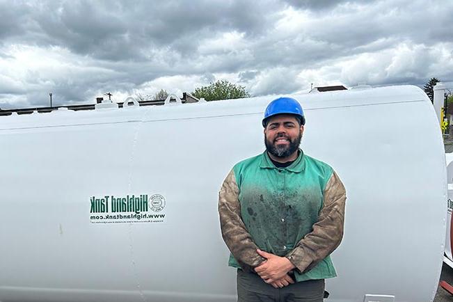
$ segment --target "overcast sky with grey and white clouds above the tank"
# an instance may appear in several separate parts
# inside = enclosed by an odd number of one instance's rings
[[[453,81],[453,1],[0,0],[0,108]]]

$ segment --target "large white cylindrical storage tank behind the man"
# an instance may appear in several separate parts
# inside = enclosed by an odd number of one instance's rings
[[[432,301],[447,182],[427,95],[291,97],[347,188],[327,301]],[[218,189],[263,152],[273,98],[0,117],[0,301],[235,301]]]

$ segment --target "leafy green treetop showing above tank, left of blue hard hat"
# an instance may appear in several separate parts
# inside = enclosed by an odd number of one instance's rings
[[[204,97],[207,101],[250,97],[244,86],[231,84],[227,80],[218,80],[208,86],[196,88],[192,95],[198,99]]]

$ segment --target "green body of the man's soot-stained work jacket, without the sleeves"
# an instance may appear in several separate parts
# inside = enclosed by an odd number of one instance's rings
[[[333,169],[299,152],[286,168],[273,165],[267,152],[239,162],[233,168],[239,187],[241,218],[262,250],[285,256],[312,232],[323,207],[323,193]],[[240,268],[230,255],[228,264]],[[328,255],[296,280],[333,278],[335,268]]]

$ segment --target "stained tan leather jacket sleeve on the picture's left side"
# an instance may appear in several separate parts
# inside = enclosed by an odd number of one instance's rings
[[[222,237],[242,269],[257,267],[264,258],[256,252],[257,246],[241,218],[239,188],[233,170],[228,173],[218,193],[218,214]]]

